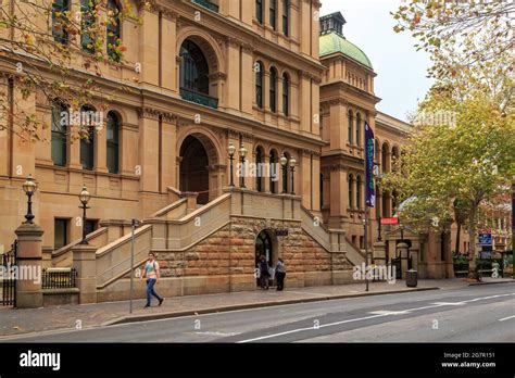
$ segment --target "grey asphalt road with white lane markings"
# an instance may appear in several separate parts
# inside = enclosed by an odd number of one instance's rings
[[[515,285],[185,316],[1,342],[515,342]]]

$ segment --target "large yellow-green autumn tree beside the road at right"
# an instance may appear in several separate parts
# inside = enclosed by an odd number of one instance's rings
[[[467,224],[470,277],[480,206],[508,190],[515,175],[514,10],[503,1],[412,0],[393,13],[395,30],[410,30],[429,52],[435,84],[382,185],[410,199],[402,217],[422,231]],[[425,122],[428,114],[448,116]]]

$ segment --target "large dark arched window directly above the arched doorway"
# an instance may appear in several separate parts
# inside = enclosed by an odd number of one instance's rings
[[[180,46],[180,89],[209,96],[209,65],[202,50],[187,39]]]

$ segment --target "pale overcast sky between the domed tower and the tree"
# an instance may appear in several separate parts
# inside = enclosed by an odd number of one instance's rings
[[[343,35],[372,61],[375,94],[382,100],[377,109],[406,121],[429,89],[426,78],[429,56],[415,51],[416,40],[409,33],[397,34],[390,15],[402,0],[322,0],[321,15],[340,11],[347,21]]]

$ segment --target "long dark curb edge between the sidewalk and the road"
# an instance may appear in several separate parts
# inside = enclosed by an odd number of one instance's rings
[[[363,293],[355,293],[355,294],[336,294],[336,295],[325,295],[325,297],[321,295],[316,298],[300,298],[300,299],[284,300],[284,301],[234,304],[234,305],[227,305],[227,306],[206,307],[206,308],[200,308],[200,310],[185,310],[185,311],[167,312],[167,313],[160,313],[160,314],[133,315],[133,316],[124,316],[117,319],[106,322],[102,324],[101,326],[102,327],[114,326],[114,325],[121,325],[121,324],[167,319],[167,318],[181,317],[181,316],[215,314],[215,313],[224,313],[224,312],[237,311],[237,310],[271,307],[271,306],[278,306],[278,305],[286,305],[286,304],[322,302],[322,301],[330,301],[330,300],[338,300],[338,299],[346,299],[346,298],[399,294],[403,292],[428,291],[428,290],[440,290],[440,288],[430,287],[430,288],[417,288],[417,289],[406,289],[406,290],[378,291],[378,292],[368,292],[368,293],[363,292]]]

